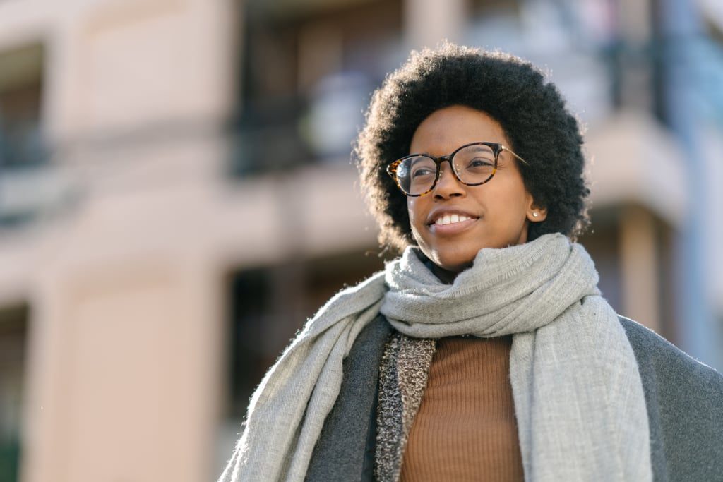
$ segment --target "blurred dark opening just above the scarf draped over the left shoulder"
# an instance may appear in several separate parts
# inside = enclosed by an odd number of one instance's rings
[[[231,273],[227,415],[244,416],[262,376],[331,296],[382,268],[359,251]]]

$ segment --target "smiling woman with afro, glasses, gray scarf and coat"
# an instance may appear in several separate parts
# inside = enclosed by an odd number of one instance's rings
[[[571,241],[581,145],[512,56],[447,44],[391,74],[356,152],[403,254],[307,323],[220,480],[720,478],[723,376],[617,317]]]

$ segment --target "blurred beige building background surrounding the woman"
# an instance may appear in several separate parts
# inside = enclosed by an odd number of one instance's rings
[[[0,481],[215,480],[265,369],[382,268],[351,142],[442,38],[547,71],[604,295],[720,369],[721,5],[0,0]]]

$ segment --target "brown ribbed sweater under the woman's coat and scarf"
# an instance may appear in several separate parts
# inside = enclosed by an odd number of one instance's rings
[[[512,337],[437,340],[401,481],[523,481]]]

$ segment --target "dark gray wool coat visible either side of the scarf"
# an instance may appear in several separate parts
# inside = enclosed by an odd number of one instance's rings
[[[620,324],[643,380],[654,481],[723,481],[723,375],[633,320]],[[373,480],[377,380],[391,330],[380,315],[357,337],[307,481]]]

